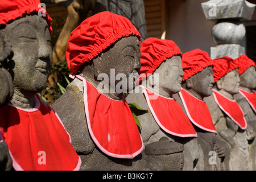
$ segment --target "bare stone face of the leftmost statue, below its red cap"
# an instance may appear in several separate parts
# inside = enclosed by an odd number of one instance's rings
[[[42,17],[26,15],[0,31],[13,45],[13,57],[9,65],[15,89],[35,94],[45,88],[52,64],[48,28]]]

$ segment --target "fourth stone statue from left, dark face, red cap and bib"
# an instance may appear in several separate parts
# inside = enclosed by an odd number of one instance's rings
[[[213,62],[207,52],[194,49],[183,54],[183,84],[174,98],[184,109],[197,132],[197,140],[204,153],[204,170],[228,170],[228,147],[217,135],[207,104],[203,98],[212,94]],[[209,154],[215,152],[217,159],[209,162]]]

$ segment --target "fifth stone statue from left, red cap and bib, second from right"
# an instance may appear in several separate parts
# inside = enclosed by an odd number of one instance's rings
[[[205,98],[205,102],[218,134],[228,143],[230,170],[250,170],[247,135],[253,137],[254,133],[247,126],[242,109],[233,97],[238,93],[240,85],[238,64],[228,56],[214,59],[213,63],[214,92],[212,96]]]

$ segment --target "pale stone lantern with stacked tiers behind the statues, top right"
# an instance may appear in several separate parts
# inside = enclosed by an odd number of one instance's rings
[[[245,37],[245,26],[241,20],[250,20],[255,5],[245,0],[210,0],[201,3],[205,18],[216,24],[212,29],[212,38],[218,44],[210,48],[210,57],[229,56],[236,59],[245,54],[240,43]]]

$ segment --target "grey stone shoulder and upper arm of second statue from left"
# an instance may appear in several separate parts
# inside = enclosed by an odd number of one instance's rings
[[[53,104],[52,108],[59,115],[63,125],[71,136],[72,146],[81,155],[92,152],[95,145],[90,139],[84,110],[83,92],[79,85],[71,82],[65,92]]]

